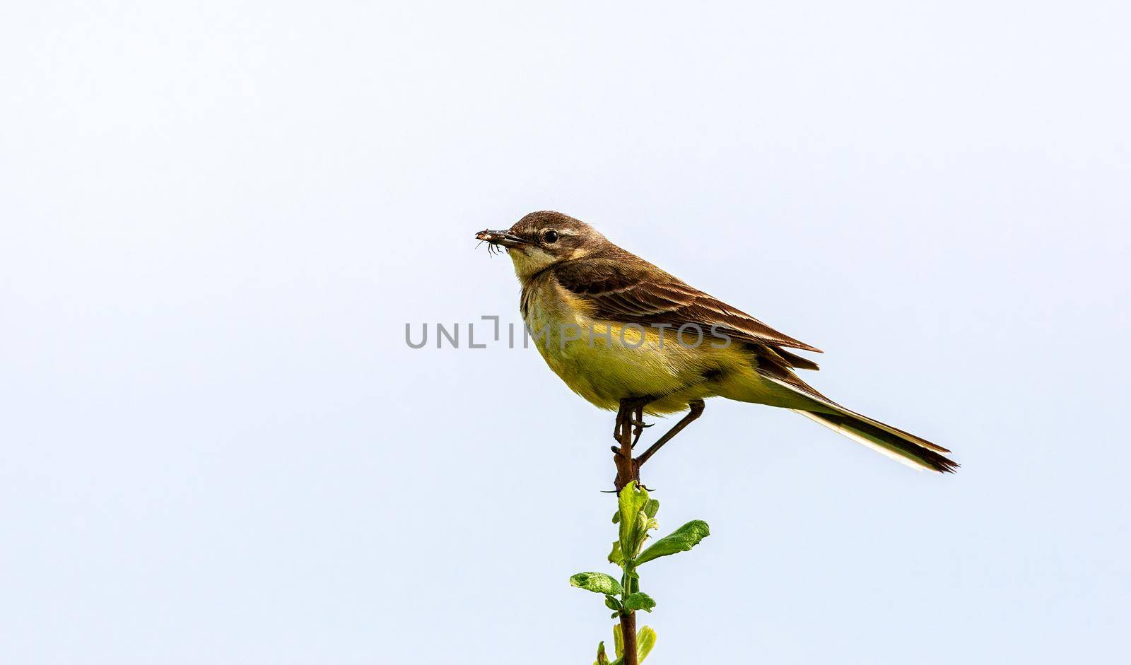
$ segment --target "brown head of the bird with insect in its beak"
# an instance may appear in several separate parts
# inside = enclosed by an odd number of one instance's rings
[[[552,210],[530,213],[510,228],[481,231],[475,238],[506,248],[524,282],[554,264],[585,258],[608,243],[585,222]]]

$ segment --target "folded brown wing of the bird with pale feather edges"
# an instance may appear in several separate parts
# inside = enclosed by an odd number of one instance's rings
[[[778,332],[634,256],[564,261],[553,270],[563,288],[589,303],[596,319],[674,328],[693,323],[705,335],[710,335],[711,327],[717,326],[726,335],[752,344],[820,353],[815,346]],[[788,352],[785,355],[798,361],[794,366],[815,369],[811,361]]]

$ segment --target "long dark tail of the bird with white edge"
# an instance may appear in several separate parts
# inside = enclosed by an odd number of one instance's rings
[[[958,464],[942,455],[950,452],[946,448],[839,405],[836,406],[839,413],[835,414],[800,408],[793,411],[909,467],[943,474],[952,474],[958,468]]]

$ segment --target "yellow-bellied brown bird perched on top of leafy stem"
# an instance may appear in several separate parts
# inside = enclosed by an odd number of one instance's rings
[[[530,213],[475,234],[504,250],[520,311],[551,370],[577,395],[618,411],[640,438],[644,415],[688,414],[636,461],[642,465],[722,397],[787,408],[907,466],[953,473],[950,450],[832,401],[797,377],[822,353],[699,291],[562,213]],[[632,443],[636,443],[636,440]],[[615,448],[614,448],[615,451]]]

